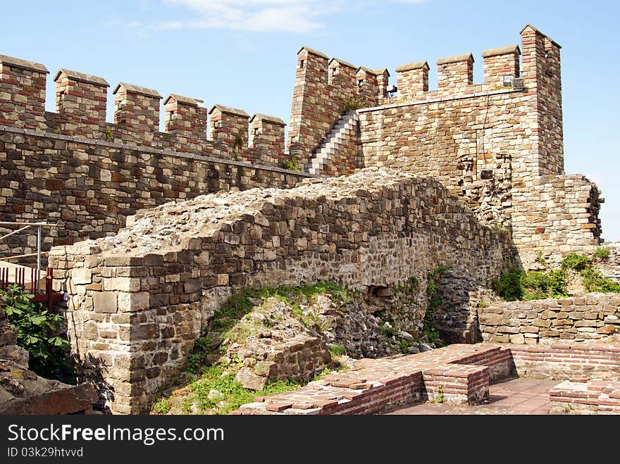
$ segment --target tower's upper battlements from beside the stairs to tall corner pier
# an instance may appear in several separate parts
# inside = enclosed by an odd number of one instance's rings
[[[433,104],[449,99],[472,99],[468,105],[480,111],[485,102],[474,102],[481,94],[514,92],[511,99],[531,99],[524,108],[532,113],[538,130],[531,127],[529,141],[538,152],[523,159],[520,170],[529,173],[562,173],[562,86],[559,45],[531,25],[523,27],[521,46],[509,45],[483,52],[484,80],[474,84],[473,54],[465,53],[437,61],[438,88],[429,89],[428,61],[396,68],[397,92],[388,94],[390,73],[371,70],[340,58],[302,47],[297,54],[297,73],[290,118],[290,152],[305,160],[327,143],[344,109],[381,111],[393,104]],[[521,61],[523,64],[521,64]],[[354,101],[355,105],[347,105]],[[536,114],[534,114],[536,113]],[[478,121],[483,123],[484,120]],[[362,121],[363,123],[363,121]],[[536,130],[533,130],[536,129]],[[476,130],[487,130],[484,124]],[[480,137],[480,134],[474,134]],[[464,135],[464,139],[471,136]],[[362,135],[361,145],[364,145]],[[478,147],[479,148],[479,147]],[[404,150],[404,149],[403,149]],[[407,150],[408,151],[408,150]],[[458,150],[457,150],[458,151]],[[542,151],[545,151],[543,154]],[[480,156],[483,156],[482,154]],[[364,163],[358,166],[364,167]]]

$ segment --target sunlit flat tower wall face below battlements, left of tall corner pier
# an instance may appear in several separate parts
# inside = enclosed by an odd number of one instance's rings
[[[362,165],[433,176],[483,217],[507,225],[516,166],[533,149],[519,116],[528,99],[478,88],[456,99],[360,110]]]

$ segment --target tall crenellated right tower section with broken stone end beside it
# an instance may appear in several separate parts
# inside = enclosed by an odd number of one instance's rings
[[[569,248],[590,253],[600,244],[602,200],[593,182],[564,174],[560,48],[527,25],[521,46],[483,53],[483,83],[473,83],[473,55],[462,54],[438,60],[436,90],[428,88],[426,61],[399,66],[398,93],[387,96],[387,72],[328,62],[304,47],[290,151],[311,156],[337,123],[342,102],[356,94],[363,106],[356,111],[356,164],[335,155],[322,161],[321,173],[386,166],[435,177],[482,218],[511,230],[526,266],[539,251],[551,261]],[[334,70],[340,80],[331,77]]]

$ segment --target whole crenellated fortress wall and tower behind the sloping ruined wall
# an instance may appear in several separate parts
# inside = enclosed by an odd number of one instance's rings
[[[399,66],[398,94],[389,96],[385,68],[302,47],[288,152],[279,118],[223,105],[208,112],[176,94],[163,101],[159,132],[161,95],[125,82],[113,90],[114,123],[106,123],[108,82],[66,69],[55,76],[57,112],[46,112],[44,65],[0,56],[0,213],[54,220],[49,247],[113,234],[126,215],[166,201],[221,188],[292,187],[306,174],[275,166],[293,157],[306,166],[353,103],[361,107],[354,130],[312,172],[385,166],[435,177],[509,230],[526,266],[540,252],[550,261],[568,249],[590,253],[600,244],[602,199],[585,177],[564,174],[559,51],[527,25],[521,47],[483,53],[482,84],[473,84],[473,56],[462,54],[438,60],[433,91],[426,61]],[[518,84],[504,85],[506,76]],[[8,243],[0,253],[32,251],[23,236]]]

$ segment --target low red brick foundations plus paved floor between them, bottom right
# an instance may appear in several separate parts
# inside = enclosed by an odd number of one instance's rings
[[[515,371],[523,377],[506,380]],[[409,356],[361,359],[352,370],[256,398],[233,413],[618,414],[619,373],[619,344],[454,344]],[[410,406],[420,401],[427,402]]]

